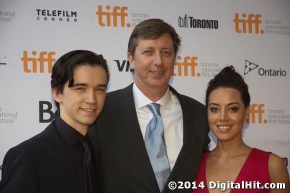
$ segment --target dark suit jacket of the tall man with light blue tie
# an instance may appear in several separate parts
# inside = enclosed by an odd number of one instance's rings
[[[208,151],[206,109],[200,102],[179,94],[183,114],[183,146],[168,181],[193,181],[200,155]],[[160,192],[147,155],[136,115],[132,84],[107,93],[101,115],[89,136],[96,148],[106,193]],[[180,189],[179,192],[191,192]],[[167,183],[162,192],[169,190]]]

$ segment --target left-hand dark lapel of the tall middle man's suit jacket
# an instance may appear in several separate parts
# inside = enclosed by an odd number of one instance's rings
[[[120,109],[123,109],[123,123],[125,131],[127,132],[128,139],[132,143],[132,146],[135,149],[135,156],[138,157],[140,161],[140,169],[145,169],[148,173],[151,180],[155,183],[156,188],[158,188],[157,181],[155,179],[155,174],[152,169],[147,150],[145,147],[145,143],[143,140],[143,136],[140,130],[137,113],[134,104],[133,92],[132,92],[132,84],[124,88],[124,91],[118,96],[121,105]]]

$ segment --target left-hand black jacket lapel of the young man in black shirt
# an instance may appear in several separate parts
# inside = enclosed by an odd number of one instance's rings
[[[71,186],[73,192],[81,192],[80,186],[74,172],[73,166],[65,152],[64,146],[57,134],[54,126],[54,122],[50,123],[44,130],[44,134],[47,138],[48,145],[54,156],[56,165],[59,166],[59,171],[63,174],[68,184]]]

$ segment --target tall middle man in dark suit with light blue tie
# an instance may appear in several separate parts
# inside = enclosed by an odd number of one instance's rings
[[[179,44],[161,19],[140,22],[130,35],[134,82],[107,93],[89,129],[106,193],[192,191],[168,188],[194,180],[209,143],[205,106],[168,85]]]

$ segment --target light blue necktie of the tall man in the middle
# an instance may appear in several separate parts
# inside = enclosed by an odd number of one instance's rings
[[[160,116],[159,104],[150,103],[147,104],[147,107],[153,113],[153,117],[146,128],[145,146],[159,189],[162,191],[170,174],[170,166],[164,141],[163,123]]]

